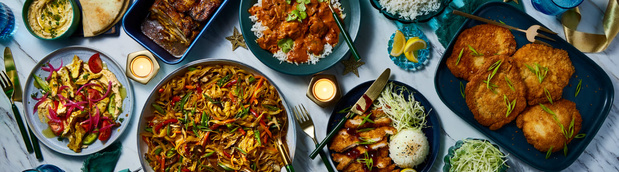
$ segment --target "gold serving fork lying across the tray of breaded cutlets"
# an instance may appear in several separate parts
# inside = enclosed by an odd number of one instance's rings
[[[558,34],[558,33],[552,32],[552,30],[550,30],[548,28],[545,28],[545,27],[542,27],[540,25],[532,25],[529,28],[527,28],[527,30],[522,30],[520,28],[512,27],[512,26],[506,25],[506,24],[501,24],[500,22],[495,22],[493,20],[483,19],[482,17],[479,17],[477,15],[468,14],[468,13],[465,13],[465,12],[462,12],[462,11],[454,10],[454,14],[461,15],[462,17],[467,17],[469,19],[474,19],[474,20],[478,20],[478,21],[481,21],[481,22],[486,22],[488,24],[493,24],[493,25],[498,25],[500,27],[509,28],[511,30],[517,30],[519,32],[524,32],[524,33],[526,33],[527,40],[529,40],[529,42],[539,43],[541,45],[546,45],[546,46],[550,46],[550,45],[548,43],[544,42],[544,41],[540,41],[540,40],[535,39],[535,37],[545,38],[545,39],[552,40],[552,41],[555,41],[555,40],[553,40],[550,37],[547,37],[546,35],[542,35],[540,33],[537,33],[537,30],[542,30],[543,32],[552,33],[552,34],[555,34],[555,35]],[[550,47],[552,47],[552,46],[550,46]]]

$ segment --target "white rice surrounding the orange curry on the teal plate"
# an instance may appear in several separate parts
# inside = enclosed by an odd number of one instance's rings
[[[345,19],[346,14],[344,14],[344,9],[342,8],[342,4],[340,4],[339,0],[331,0],[331,2],[333,3],[333,7],[339,9],[340,12],[342,13],[340,14],[340,18]],[[258,6],[258,7],[262,6],[262,0],[258,0],[258,3],[254,4],[254,6]],[[264,36],[263,32],[267,30],[269,27],[262,25],[262,22],[258,21],[258,17],[256,15],[249,16],[249,19],[251,20],[251,22],[254,22],[254,25],[251,26],[251,32],[254,32],[254,35],[256,35],[256,37],[262,38],[262,36]],[[321,54],[319,54],[318,56],[312,53],[308,53],[308,56],[309,56],[308,63],[316,64],[316,62],[320,61],[320,59],[326,56],[329,56],[329,54],[331,54],[332,52],[333,52],[333,46],[326,43],[324,44],[324,49],[322,49]],[[290,63],[299,65],[298,62],[288,61],[288,55],[284,53],[282,49],[277,51],[277,53],[274,53],[273,57],[279,59],[280,63],[285,61],[285,62],[290,62]]]

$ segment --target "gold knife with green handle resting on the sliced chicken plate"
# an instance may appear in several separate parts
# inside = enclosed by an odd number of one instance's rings
[[[329,140],[331,140],[333,136],[337,134],[337,131],[339,131],[340,129],[342,129],[342,127],[344,127],[344,124],[346,123],[346,119],[351,118],[355,114],[363,114],[365,113],[365,111],[370,109],[372,102],[374,102],[374,100],[378,98],[381,92],[383,92],[383,88],[385,87],[385,85],[387,85],[387,81],[389,81],[390,75],[391,75],[391,69],[387,68],[385,69],[385,71],[383,71],[383,74],[381,74],[378,77],[378,79],[374,80],[374,83],[370,85],[370,88],[368,88],[368,90],[365,91],[365,93],[363,93],[363,96],[361,96],[361,98],[357,100],[357,103],[355,103],[355,105],[353,105],[352,108],[350,108],[350,112],[346,114],[344,118],[340,119],[340,122],[337,123],[335,128],[331,132],[329,132],[329,134],[327,134],[327,137],[324,138],[322,142],[320,142],[318,147],[314,149],[314,152],[309,154],[309,158],[312,158],[312,159],[316,158],[316,155],[318,155],[318,152],[320,152],[320,150],[325,145],[327,145],[327,142],[329,142]]]

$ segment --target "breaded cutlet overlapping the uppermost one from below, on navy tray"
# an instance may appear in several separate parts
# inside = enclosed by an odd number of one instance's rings
[[[499,69],[490,79],[491,84],[498,86],[490,86],[495,93],[488,88],[485,81],[488,80],[488,75],[494,71],[490,67],[499,61]],[[483,69],[472,75],[470,82],[466,85],[466,103],[479,124],[488,126],[491,130],[496,130],[516,119],[516,116],[527,106],[524,98],[526,88],[524,88],[516,63],[509,56],[491,56],[486,58],[484,64]],[[509,87],[506,77],[514,90]],[[504,97],[508,98],[509,103],[516,100],[516,104],[509,115]]]

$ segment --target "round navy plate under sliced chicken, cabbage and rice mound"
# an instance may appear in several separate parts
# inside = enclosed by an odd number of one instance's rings
[[[340,101],[338,101],[337,104],[335,105],[335,108],[333,109],[331,113],[331,117],[329,118],[329,125],[327,126],[327,132],[332,131],[333,127],[337,125],[340,119],[346,116],[346,113],[337,113],[337,111],[343,110],[345,108],[348,108],[354,105],[357,102],[357,100],[361,97],[361,95],[363,95],[363,93],[365,93],[365,91],[368,90],[368,88],[370,88],[370,85],[372,85],[373,82],[374,80],[363,82],[362,84],[357,85],[357,87],[352,88],[352,90],[346,93],[344,97],[340,98]],[[412,93],[413,97],[415,98],[415,101],[419,101],[422,104],[422,106],[425,108],[426,113],[428,113],[428,116],[426,117],[426,121],[427,121],[426,125],[428,127],[423,128],[422,131],[423,131],[423,134],[425,134],[426,137],[428,137],[428,142],[430,143],[430,154],[428,154],[428,157],[426,157],[426,160],[422,164],[418,165],[417,168],[415,168],[415,170],[420,171],[420,172],[430,171],[430,169],[432,168],[432,165],[434,164],[434,161],[436,160],[436,156],[438,155],[438,149],[441,147],[441,124],[439,123],[438,118],[436,117],[436,113],[434,113],[435,110],[432,108],[432,105],[430,105],[430,101],[426,100],[426,98],[423,97],[423,95],[419,93],[419,91],[415,90],[415,88],[410,87],[409,85],[406,85],[402,82],[398,82],[396,80],[389,80],[389,82],[393,82],[394,85],[407,88],[408,92],[404,92],[404,97],[409,97],[409,95]],[[400,91],[394,90],[394,92],[399,93]],[[331,145],[331,143],[329,143],[329,145]],[[334,152],[333,150],[329,150],[329,155],[331,155],[331,153],[337,153],[337,152]],[[327,157],[331,159],[334,165],[337,163],[333,161],[333,158],[331,156],[327,156]]]

